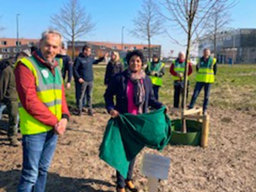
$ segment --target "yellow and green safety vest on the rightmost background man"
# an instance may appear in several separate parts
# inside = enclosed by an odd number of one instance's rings
[[[213,67],[215,64],[216,58],[210,57],[207,62],[204,61],[204,58],[200,58],[198,72],[196,73],[196,82],[214,83]]]

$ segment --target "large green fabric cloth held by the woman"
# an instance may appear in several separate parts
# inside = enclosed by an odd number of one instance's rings
[[[171,138],[165,108],[142,115],[121,114],[111,118],[100,145],[100,159],[126,179],[130,161],[147,146],[162,150]]]

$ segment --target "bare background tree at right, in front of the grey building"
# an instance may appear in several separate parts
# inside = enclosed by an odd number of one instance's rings
[[[212,40],[214,56],[217,56],[217,38],[221,31],[227,28],[231,22],[230,8],[236,5],[237,1],[219,1],[211,11],[211,17],[205,22],[205,35]]]

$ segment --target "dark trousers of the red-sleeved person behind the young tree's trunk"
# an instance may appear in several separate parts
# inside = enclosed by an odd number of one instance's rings
[[[173,95],[173,107],[179,108],[180,103],[180,95],[184,92],[184,81],[174,81],[174,95]],[[189,81],[188,81],[188,87],[187,87],[187,99],[188,99],[188,91],[189,91]],[[181,104],[183,106],[183,104]]]

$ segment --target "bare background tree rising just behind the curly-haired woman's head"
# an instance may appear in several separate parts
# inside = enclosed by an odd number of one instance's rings
[[[151,39],[164,32],[163,19],[159,17],[157,4],[153,0],[144,0],[136,19],[132,21],[134,29],[130,30],[130,33],[141,40],[147,40],[148,61],[150,61],[152,56]]]

